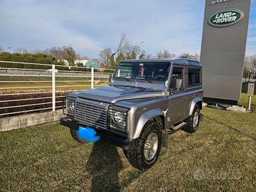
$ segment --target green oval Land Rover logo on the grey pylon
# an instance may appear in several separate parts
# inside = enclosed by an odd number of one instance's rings
[[[237,9],[219,11],[208,18],[208,24],[213,27],[233,26],[242,20],[243,13]]]

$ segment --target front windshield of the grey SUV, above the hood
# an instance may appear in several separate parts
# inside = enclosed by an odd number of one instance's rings
[[[115,79],[165,82],[168,80],[170,63],[119,63]]]

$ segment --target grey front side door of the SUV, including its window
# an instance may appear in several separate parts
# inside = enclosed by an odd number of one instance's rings
[[[183,119],[186,107],[185,72],[183,66],[173,65],[171,74],[170,122]]]

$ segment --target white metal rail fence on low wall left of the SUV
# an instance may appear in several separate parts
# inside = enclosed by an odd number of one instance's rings
[[[14,64],[26,68],[9,68]],[[113,72],[103,68],[0,61],[0,118],[60,109],[68,92],[107,85]]]

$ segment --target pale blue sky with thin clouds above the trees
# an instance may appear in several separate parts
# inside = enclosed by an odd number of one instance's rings
[[[204,0],[0,0],[0,46],[14,52],[70,45],[97,58],[125,33],[152,56],[164,49],[200,53],[204,6]],[[250,13],[246,55],[256,54],[256,0]]]

